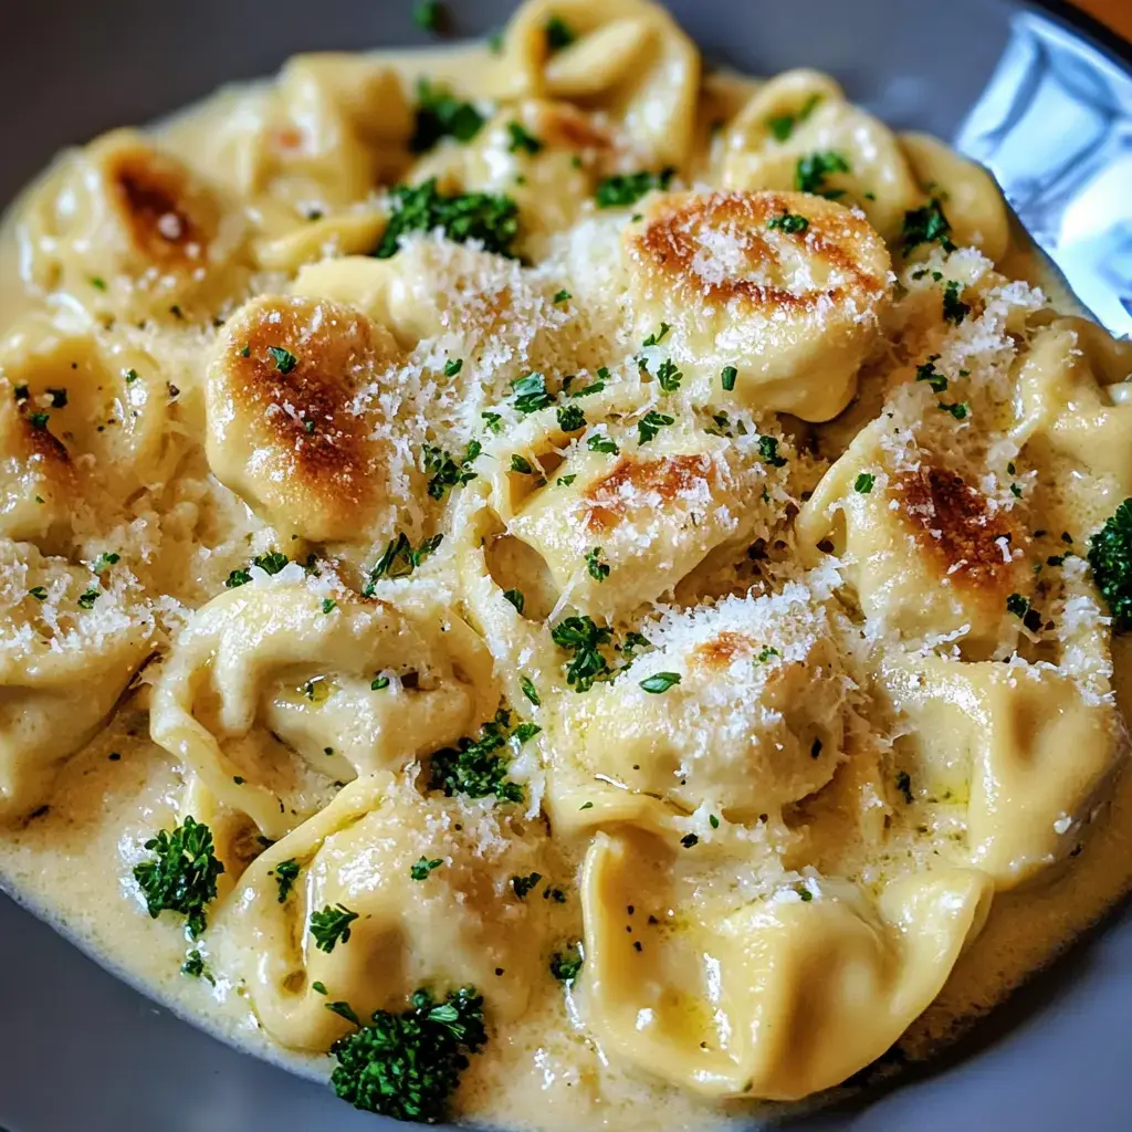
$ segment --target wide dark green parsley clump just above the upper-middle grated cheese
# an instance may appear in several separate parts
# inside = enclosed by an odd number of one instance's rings
[[[401,237],[439,228],[456,243],[477,240],[486,251],[511,256],[518,235],[518,206],[507,196],[488,192],[447,195],[436,178],[421,185],[398,185],[392,190],[393,213],[374,255],[388,259],[397,254]]]

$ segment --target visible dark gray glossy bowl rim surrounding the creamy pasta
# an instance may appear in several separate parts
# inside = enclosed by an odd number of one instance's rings
[[[419,45],[410,0],[35,0],[3,6],[0,201],[62,146],[312,49]],[[452,0],[454,31],[507,0]],[[670,0],[710,61],[829,70],[899,128],[987,164],[1073,290],[1132,332],[1132,50],[1075,10],[1007,0]],[[9,1132],[374,1132],[328,1090],[154,1005],[0,895]],[[1132,1127],[1132,914],[1117,910],[931,1065],[798,1130]],[[662,1113],[641,1127],[663,1129]]]

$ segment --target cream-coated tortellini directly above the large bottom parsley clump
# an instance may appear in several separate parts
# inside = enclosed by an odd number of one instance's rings
[[[367,775],[248,868],[209,944],[276,1041],[326,1050],[350,1029],[328,1001],[368,1018],[403,1010],[421,986],[443,994],[471,984],[487,993],[494,1020],[522,1017],[547,978],[540,935],[550,906],[518,899],[512,878],[549,869],[523,820],[492,801],[421,797],[392,774]],[[285,895],[282,861],[299,866]],[[323,909],[354,915],[350,938],[333,949],[310,929]]]

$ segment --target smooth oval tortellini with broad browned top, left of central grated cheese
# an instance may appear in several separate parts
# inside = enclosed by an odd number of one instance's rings
[[[349,307],[254,299],[208,367],[213,472],[283,539],[365,539],[394,506],[393,438],[355,398],[396,357],[388,332]]]

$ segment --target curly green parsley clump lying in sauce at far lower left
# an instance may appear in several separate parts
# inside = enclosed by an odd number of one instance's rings
[[[183,916],[195,940],[205,929],[205,906],[216,899],[216,877],[224,872],[212,831],[189,816],[172,831],[161,830],[144,848],[151,857],[134,866],[134,880],[146,910],[153,919],[163,911]]]

